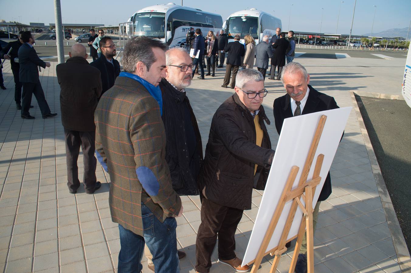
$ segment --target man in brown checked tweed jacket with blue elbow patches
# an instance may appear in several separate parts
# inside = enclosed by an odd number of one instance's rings
[[[174,217],[182,214],[167,165],[158,87],[166,76],[164,43],[127,43],[114,86],[95,111],[96,155],[109,173],[112,221],[120,230],[118,272],[140,272],[144,242],[157,272],[179,272]]]

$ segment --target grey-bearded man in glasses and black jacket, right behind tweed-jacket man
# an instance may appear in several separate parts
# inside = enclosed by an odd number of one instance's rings
[[[178,195],[199,195],[197,178],[203,161],[203,145],[196,116],[187,97],[192,80],[193,61],[183,48],[166,51],[166,78],[159,86],[163,98],[162,120],[166,130],[166,161],[173,189]],[[148,269],[155,271],[146,247]],[[178,258],[185,252],[178,250]]]

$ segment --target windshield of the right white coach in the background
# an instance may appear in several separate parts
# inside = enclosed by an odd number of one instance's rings
[[[250,34],[254,39],[258,39],[258,18],[248,16],[231,17],[228,22],[228,36],[234,39],[237,34],[240,39]]]

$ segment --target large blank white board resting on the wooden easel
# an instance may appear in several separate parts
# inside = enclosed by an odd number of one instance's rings
[[[256,259],[293,166],[300,167],[293,184],[293,189],[298,186],[298,181],[300,180],[302,169],[304,168],[305,160],[307,159],[309,148],[314,139],[314,134],[320,117],[321,115],[326,115],[327,120],[307,178],[307,180],[312,179],[317,156],[323,154],[324,161],[320,172],[321,182],[319,186],[316,187],[313,198],[313,207],[315,206],[326,180],[327,173],[330,170],[332,160],[337,151],[351,109],[352,107],[344,107],[284,119],[274,159],[268,175],[266,189],[263,193],[263,198],[261,199],[261,204],[248,242],[247,250],[242,259],[242,265],[248,264]],[[265,252],[278,246],[292,202],[293,200],[290,200],[286,203]],[[304,204],[303,200],[302,203]],[[301,220],[302,211],[298,208],[287,240],[298,234]]]

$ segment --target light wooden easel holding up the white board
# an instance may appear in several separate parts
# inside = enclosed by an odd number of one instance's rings
[[[307,269],[308,269],[308,273],[314,273],[314,229],[312,225],[312,213],[313,213],[313,208],[312,208],[313,199],[312,198],[315,193],[316,186],[321,181],[321,177],[319,175],[320,175],[321,167],[323,165],[323,159],[324,159],[323,154],[320,154],[317,157],[312,180],[307,181],[307,177],[308,177],[308,173],[310,171],[312,162],[314,160],[314,155],[316,153],[318,143],[320,141],[321,134],[323,132],[324,124],[326,123],[326,119],[327,119],[327,116],[325,115],[322,115],[320,117],[316,132],[314,134],[314,139],[312,140],[312,143],[311,143],[308,155],[307,155],[307,159],[305,160],[305,165],[302,170],[302,174],[300,177],[300,181],[298,183],[298,187],[296,187],[293,190],[291,190],[291,188],[293,187],[294,181],[296,180],[299,167],[293,166],[291,168],[289,177],[286,182],[286,186],[284,188],[284,191],[282,192],[277,208],[275,209],[275,212],[271,218],[270,225],[268,226],[268,230],[266,232],[266,235],[264,236],[263,243],[260,246],[257,257],[254,261],[249,262],[249,264],[252,264],[254,262],[254,265],[251,270],[252,273],[257,272],[261,264],[261,260],[268,253],[270,253],[271,256],[275,255],[274,261],[271,266],[270,273],[274,273],[276,271],[282,253],[286,252],[287,250],[287,248],[285,247],[285,244],[286,244],[286,240],[287,240],[288,234],[291,229],[291,224],[293,223],[293,219],[297,211],[297,207],[300,207],[300,209],[303,212],[303,215],[302,215],[300,229],[298,230],[297,243],[294,249],[293,259],[291,260],[289,273],[293,273],[296,267],[298,252],[300,251],[302,238],[304,237],[304,233],[306,229],[307,229]],[[300,198],[303,198],[305,200],[305,207],[302,205]],[[286,225],[284,226],[284,230],[281,234],[279,244],[276,248],[273,248],[272,250],[266,252],[268,243],[270,242],[272,233],[274,232],[275,227],[279,221],[279,218],[283,212],[284,206],[286,202],[290,200],[293,200],[293,203],[291,205],[291,209],[289,211],[289,214],[286,220]]]

